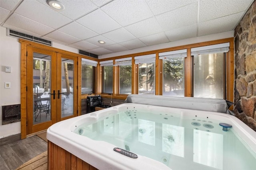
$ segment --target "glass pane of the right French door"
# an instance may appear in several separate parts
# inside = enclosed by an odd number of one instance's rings
[[[67,117],[74,115],[74,61],[61,60],[61,117]]]

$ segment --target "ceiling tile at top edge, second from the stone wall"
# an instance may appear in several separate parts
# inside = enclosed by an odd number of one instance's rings
[[[163,14],[197,1],[198,0],[146,0],[154,15]]]

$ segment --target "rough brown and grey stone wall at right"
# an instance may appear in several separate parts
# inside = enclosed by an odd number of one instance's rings
[[[256,1],[234,30],[234,113],[256,131]]]

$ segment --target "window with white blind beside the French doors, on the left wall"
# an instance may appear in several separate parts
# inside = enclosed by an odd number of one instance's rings
[[[97,66],[97,61],[92,61],[88,59],[82,59],[82,84],[81,92],[82,94],[92,94],[95,93],[95,70]]]

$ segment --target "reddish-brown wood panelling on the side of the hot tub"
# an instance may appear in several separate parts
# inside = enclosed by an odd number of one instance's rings
[[[94,166],[48,141],[48,170],[98,170]]]

